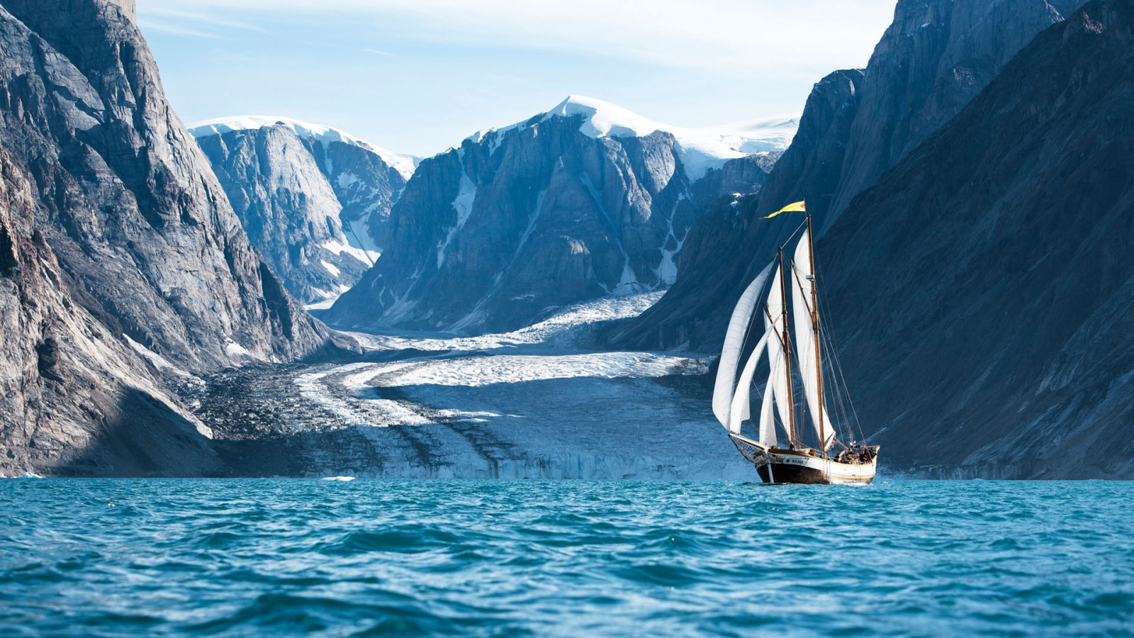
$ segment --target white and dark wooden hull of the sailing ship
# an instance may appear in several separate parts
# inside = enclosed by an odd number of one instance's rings
[[[878,448],[866,461],[840,462],[796,450],[767,448],[737,435],[729,435],[736,448],[755,468],[764,482],[813,485],[866,485],[874,480]]]

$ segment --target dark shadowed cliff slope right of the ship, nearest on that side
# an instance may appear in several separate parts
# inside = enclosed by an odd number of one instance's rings
[[[1132,121],[1134,7],[1091,2],[819,242],[891,467],[1134,477]]]

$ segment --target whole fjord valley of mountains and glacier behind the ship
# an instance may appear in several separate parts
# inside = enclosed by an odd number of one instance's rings
[[[132,0],[0,7],[7,476],[752,480],[711,379],[802,201],[880,473],[1134,475],[1127,2],[900,0],[799,115],[424,158],[184,125]]]

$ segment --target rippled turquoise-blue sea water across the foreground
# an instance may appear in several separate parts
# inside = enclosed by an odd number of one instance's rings
[[[11,636],[1132,636],[1126,482],[2,480]]]

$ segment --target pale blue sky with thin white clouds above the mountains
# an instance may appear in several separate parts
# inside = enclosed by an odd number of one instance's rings
[[[137,0],[186,124],[290,116],[432,156],[599,98],[711,126],[799,111],[866,64],[894,0]]]

